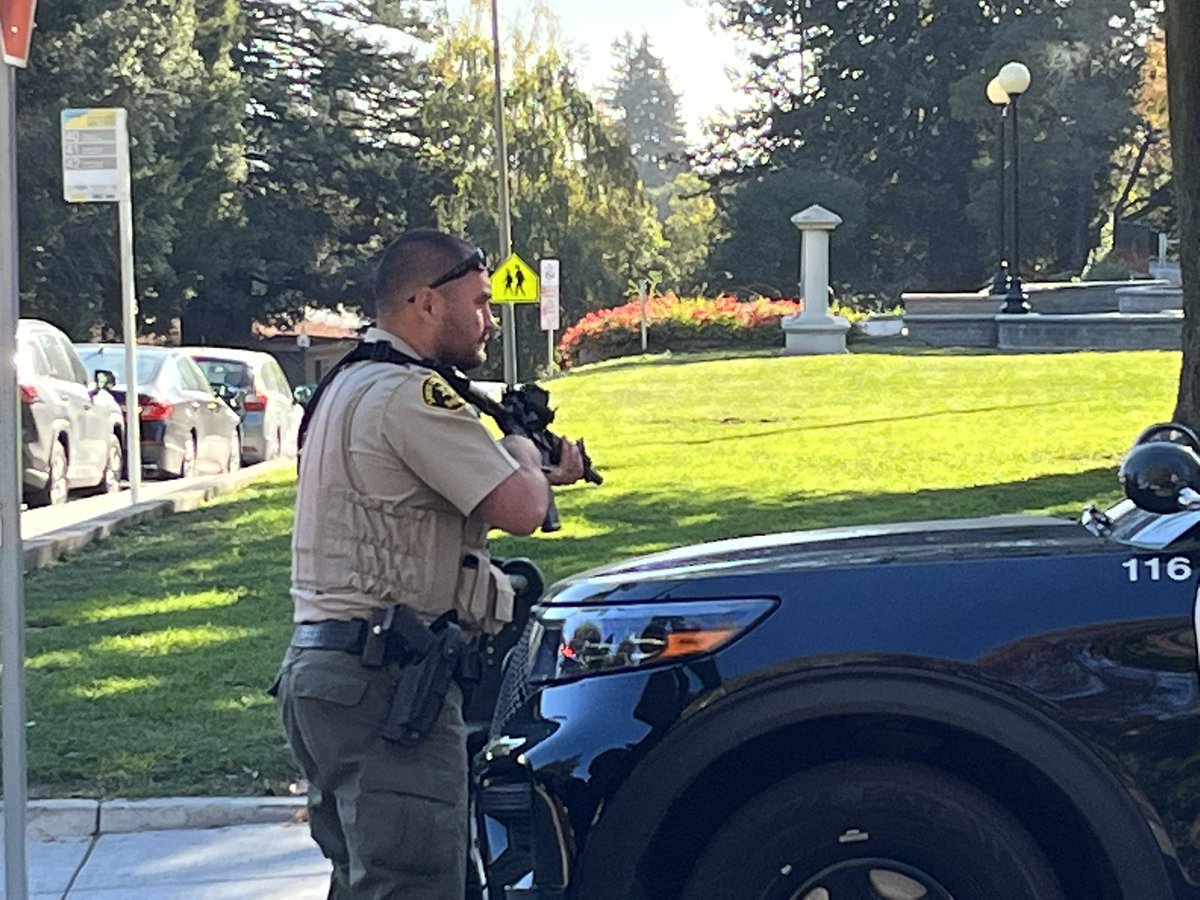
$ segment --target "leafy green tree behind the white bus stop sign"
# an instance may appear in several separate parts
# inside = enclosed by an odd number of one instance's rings
[[[128,110],[143,330],[168,330],[227,263],[241,175],[240,95],[228,58],[238,30],[236,7],[215,0],[38,10],[37,65],[18,79],[22,314],[76,337],[121,324],[116,209],[62,200],[65,108]]]

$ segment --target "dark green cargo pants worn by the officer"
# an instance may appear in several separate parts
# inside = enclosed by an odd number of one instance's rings
[[[308,780],[308,827],[334,864],[331,900],[462,900],[467,738],[454,684],[430,736],[379,737],[396,667],[289,648],[276,703]]]

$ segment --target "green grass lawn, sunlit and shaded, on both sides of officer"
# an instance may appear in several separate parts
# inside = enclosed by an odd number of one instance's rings
[[[1169,418],[1177,353],[646,358],[548,384],[602,486],[498,539],[548,578],[692,541],[998,512],[1078,516]],[[276,474],[25,581],[34,797],[278,793],[264,689],[290,632],[293,484]]]

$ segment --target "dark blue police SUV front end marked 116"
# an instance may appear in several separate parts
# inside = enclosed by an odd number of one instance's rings
[[[556,584],[475,756],[481,893],[1200,898],[1200,442],[1122,480]]]

